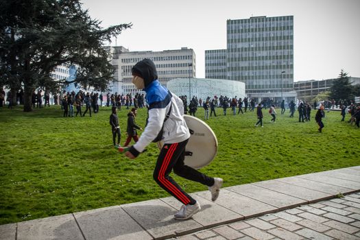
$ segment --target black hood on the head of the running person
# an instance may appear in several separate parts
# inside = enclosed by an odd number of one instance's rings
[[[151,84],[154,80],[158,79],[155,64],[148,58],[137,62],[135,66],[132,67],[132,74],[142,77],[145,82],[145,87]]]

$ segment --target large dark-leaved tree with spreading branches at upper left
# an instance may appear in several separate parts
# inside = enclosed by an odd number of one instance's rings
[[[113,80],[110,54],[102,47],[131,23],[103,29],[80,0],[0,0],[0,84],[24,85],[24,111],[32,92],[56,88],[50,77],[60,65],[76,65],[73,82],[105,91]]]

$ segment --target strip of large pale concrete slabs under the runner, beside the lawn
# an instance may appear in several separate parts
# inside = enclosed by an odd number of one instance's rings
[[[2,225],[0,239],[170,239],[357,191],[360,166],[226,187],[216,202],[209,191],[193,193],[202,211],[187,221],[173,219],[181,205],[166,197]]]

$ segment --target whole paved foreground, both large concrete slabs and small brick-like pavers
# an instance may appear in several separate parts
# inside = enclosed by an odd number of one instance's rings
[[[202,211],[173,219],[173,197],[0,226],[21,239],[360,239],[360,166],[193,193]],[[345,197],[338,198],[342,193]]]

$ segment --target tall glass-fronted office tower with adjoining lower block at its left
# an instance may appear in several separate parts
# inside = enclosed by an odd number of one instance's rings
[[[256,16],[228,20],[226,59],[205,61],[205,77],[213,64],[226,64],[226,79],[245,82],[248,96],[295,97],[293,92],[293,16]],[[224,60],[221,63],[221,60]],[[221,73],[221,72],[220,72]],[[222,73],[221,73],[222,74]],[[291,92],[291,93],[290,93]],[[285,94],[286,93],[286,94]],[[294,95],[295,94],[295,95]],[[294,96],[292,96],[294,95]]]

